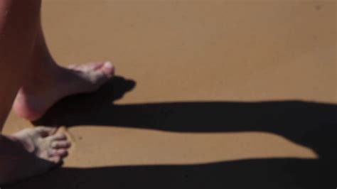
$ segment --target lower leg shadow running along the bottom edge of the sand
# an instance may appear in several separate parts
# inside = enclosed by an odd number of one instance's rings
[[[270,158],[183,166],[60,168],[18,183],[12,189],[335,188],[335,174],[328,172],[336,171],[331,163]]]

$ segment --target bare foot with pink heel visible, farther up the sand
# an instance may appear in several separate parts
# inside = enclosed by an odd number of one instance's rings
[[[21,87],[14,102],[14,112],[35,121],[63,97],[94,92],[113,75],[114,67],[109,62],[71,65],[68,69],[57,66],[46,72],[43,70],[43,73],[28,78]]]

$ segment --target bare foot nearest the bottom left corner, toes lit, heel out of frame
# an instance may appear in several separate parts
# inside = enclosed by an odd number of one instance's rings
[[[68,155],[70,142],[56,128],[39,126],[0,135],[0,185],[49,171]]]

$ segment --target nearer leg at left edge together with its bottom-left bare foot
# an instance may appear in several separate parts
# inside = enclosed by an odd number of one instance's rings
[[[1,134],[16,92],[31,70],[41,1],[0,1],[0,185],[43,173],[66,155],[68,141],[53,128]]]

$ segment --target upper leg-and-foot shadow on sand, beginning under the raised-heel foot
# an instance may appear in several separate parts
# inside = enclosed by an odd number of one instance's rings
[[[175,132],[265,131],[337,158],[337,106],[304,101],[116,105],[135,82],[115,77],[90,95],[55,104],[36,125],[125,126]]]

